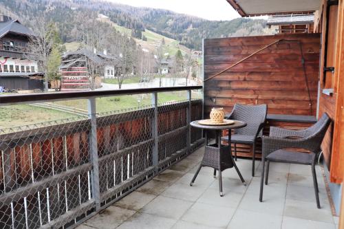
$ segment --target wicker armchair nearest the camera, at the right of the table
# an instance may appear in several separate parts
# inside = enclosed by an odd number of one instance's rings
[[[321,142],[325,136],[327,128],[330,125],[330,118],[324,113],[316,124],[308,129],[301,131],[292,131],[278,127],[270,127],[270,136],[263,136],[263,154],[261,170],[261,186],[259,201],[263,200],[264,186],[264,167],[266,166],[265,184],[268,184],[268,174],[270,162],[284,162],[291,164],[305,164],[312,166],[312,175],[314,183],[314,192],[316,197],[316,206],[320,208],[319,188],[316,180],[315,164],[316,159],[321,152]],[[311,153],[299,153],[292,151],[292,148],[307,149]],[[288,150],[286,150],[288,149]],[[291,149],[291,150],[290,150]]]

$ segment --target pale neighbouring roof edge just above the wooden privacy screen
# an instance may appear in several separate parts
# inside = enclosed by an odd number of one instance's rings
[[[266,25],[299,25],[314,23],[314,14],[269,16]]]

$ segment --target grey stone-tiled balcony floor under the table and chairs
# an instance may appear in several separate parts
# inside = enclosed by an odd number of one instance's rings
[[[246,179],[244,186],[234,169],[222,173],[224,197],[211,168],[202,168],[189,186],[204,148],[199,149],[151,182],[121,199],[78,229],[334,229],[321,168],[316,168],[321,209],[316,208],[310,166],[270,164],[269,184],[259,202],[261,163],[251,177],[251,160],[237,165]]]

